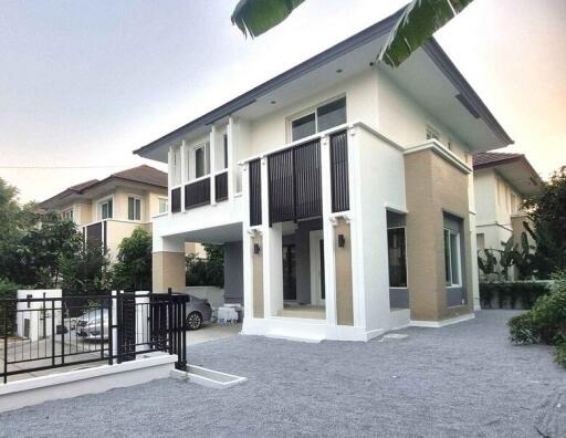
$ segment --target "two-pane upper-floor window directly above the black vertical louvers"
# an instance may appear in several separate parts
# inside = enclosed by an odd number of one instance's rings
[[[294,142],[345,123],[346,97],[340,97],[291,121],[291,138]]]

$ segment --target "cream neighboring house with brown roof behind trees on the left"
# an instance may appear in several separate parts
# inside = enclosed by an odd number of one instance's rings
[[[114,259],[134,229],[151,232],[153,218],[168,211],[167,202],[167,174],[143,165],[69,187],[40,207],[73,220],[86,240],[101,241]]]

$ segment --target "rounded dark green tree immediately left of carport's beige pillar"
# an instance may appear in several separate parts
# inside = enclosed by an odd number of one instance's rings
[[[151,288],[151,236],[142,228],[136,228],[119,244],[117,262],[114,265],[114,288]]]

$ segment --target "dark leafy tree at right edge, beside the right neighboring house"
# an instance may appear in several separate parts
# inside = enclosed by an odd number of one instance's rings
[[[534,225],[531,233],[536,240],[539,275],[549,278],[566,270],[566,167],[542,185],[539,195],[527,199],[524,208]]]

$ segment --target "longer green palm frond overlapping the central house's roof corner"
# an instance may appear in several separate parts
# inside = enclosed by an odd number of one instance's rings
[[[378,60],[396,67],[473,0],[413,0],[389,33]]]

